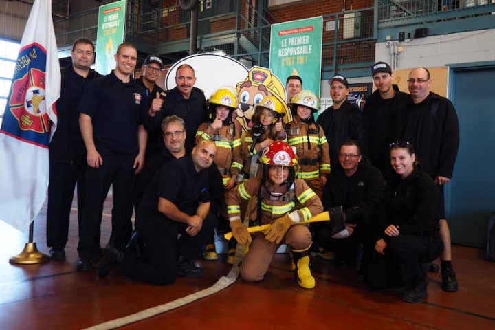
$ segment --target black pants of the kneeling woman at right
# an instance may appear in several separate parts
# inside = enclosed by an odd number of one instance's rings
[[[408,285],[423,272],[421,263],[429,263],[443,251],[441,239],[428,236],[393,237],[385,254],[375,253],[366,281],[374,289]]]

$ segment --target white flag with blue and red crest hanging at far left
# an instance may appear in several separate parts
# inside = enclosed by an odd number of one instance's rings
[[[52,1],[35,0],[0,129],[0,220],[21,231],[29,228],[47,196],[48,144],[60,91]]]

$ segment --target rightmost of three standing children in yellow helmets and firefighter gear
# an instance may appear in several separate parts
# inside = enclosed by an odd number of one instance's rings
[[[330,155],[325,132],[314,120],[320,100],[311,91],[300,91],[292,97],[289,106],[294,119],[286,125],[287,143],[296,148],[299,159],[296,177],[305,180],[321,198],[326,175],[330,173]]]

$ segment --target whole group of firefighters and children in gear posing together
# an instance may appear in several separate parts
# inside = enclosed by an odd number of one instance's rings
[[[137,50],[119,45],[106,76],[90,69],[94,45],[78,39],[62,70],[58,129],[50,144],[47,245],[65,259],[72,196],[77,184],[78,272],[98,276],[115,265],[140,281],[173,284],[198,277],[201,254],[216,260],[214,231],[231,230],[248,246],[245,281],[261,281],[281,244],[291,249],[298,285],[315,286],[311,252],[342,264],[361,256],[360,274],[377,289],[408,287],[404,300],[426,297],[426,270],[441,255],[442,287],[456,291],[443,185],[452,177],[459,144],[455,109],[430,92],[430,73],[410,72],[410,95],[393,85],[391,67],[376,63],[377,90],[364,110],[348,100],[349,83],[330,80],[333,106],[287,78],[287,103],[268,96],[255,106],[241,139],[232,118],[233,87],[206,100],[190,65],[177,68],[177,86],[156,80],[159,56],[148,56],[131,79]],[[293,120],[283,122],[287,107]],[[419,161],[419,163],[418,163]],[[100,248],[102,208],[112,186],[112,232]],[[135,210],[134,228],[131,217]],[[307,225],[329,211],[330,221]],[[343,227],[337,228],[342,220]],[[270,224],[250,234],[253,225]],[[362,253],[360,248],[362,247]],[[437,270],[438,271],[438,270]]]

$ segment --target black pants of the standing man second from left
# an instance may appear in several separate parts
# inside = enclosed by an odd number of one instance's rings
[[[124,248],[131,236],[135,155],[102,155],[100,168],[87,167],[86,197],[79,234],[78,252],[81,258],[91,258],[91,247],[98,236],[104,199],[110,186],[113,192],[112,232],[110,241]]]

